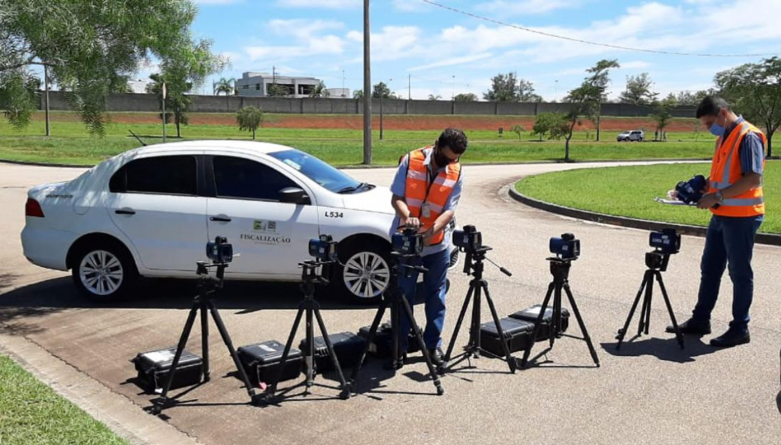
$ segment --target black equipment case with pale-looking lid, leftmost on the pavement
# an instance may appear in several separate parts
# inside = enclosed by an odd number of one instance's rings
[[[177,347],[166,347],[155,351],[141,352],[130,360],[134,363],[138,378],[137,385],[147,393],[159,393],[165,386],[168,373],[173,365],[173,356],[177,353]],[[177,372],[171,382],[172,390],[184,386],[191,386],[201,382],[203,373],[203,360],[190,351],[182,351],[179,358]]]

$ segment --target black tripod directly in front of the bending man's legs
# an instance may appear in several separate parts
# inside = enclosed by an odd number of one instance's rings
[[[393,337],[391,347],[393,354],[392,367],[394,369],[401,368],[403,365],[403,358],[401,358],[398,351],[398,322],[399,315],[401,315],[400,308],[403,308],[405,314],[409,318],[409,324],[412,326],[412,331],[415,333],[415,339],[418,340],[420,351],[423,353],[423,358],[426,360],[426,365],[429,368],[429,373],[431,375],[434,386],[437,387],[437,395],[441,396],[444,394],[444,388],[442,387],[439,376],[437,375],[437,369],[434,368],[429,351],[426,349],[426,343],[423,341],[423,333],[420,331],[420,327],[418,326],[418,323],[415,322],[415,317],[412,314],[412,307],[409,305],[409,301],[407,301],[407,297],[405,297],[404,291],[401,290],[401,288],[398,286],[400,268],[405,268],[405,274],[410,273],[412,270],[417,270],[419,272],[426,272],[428,270],[419,265],[400,264],[401,258],[415,258],[416,256],[417,255],[401,255],[398,252],[391,252],[391,279],[388,283],[387,289],[385,292],[383,292],[383,301],[380,303],[380,308],[377,309],[377,313],[374,315],[374,321],[372,322],[372,326],[369,329],[369,336],[366,338],[366,346],[363,348],[361,357],[358,358],[358,364],[355,365],[355,368],[352,370],[352,375],[350,376],[351,383],[355,383],[355,379],[358,378],[358,371],[363,365],[363,361],[366,358],[366,353],[369,351],[369,345],[371,345],[372,341],[374,340],[374,335],[377,333],[377,328],[380,326],[380,322],[382,322],[383,315],[385,315],[387,308],[391,308],[391,336]],[[403,334],[407,335],[407,333]]]

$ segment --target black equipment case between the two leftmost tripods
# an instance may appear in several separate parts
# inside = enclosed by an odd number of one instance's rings
[[[282,353],[284,351],[284,344],[276,340],[270,340],[239,347],[236,352],[250,381],[255,385],[259,385],[260,383],[276,383],[275,380],[280,372],[280,361],[282,361]],[[291,347],[279,381],[292,380],[298,377],[301,374],[303,362],[301,351]]]

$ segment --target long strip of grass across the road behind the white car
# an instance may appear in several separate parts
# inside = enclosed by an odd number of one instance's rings
[[[90,137],[84,125],[73,120],[53,120],[52,137],[41,136],[44,123],[34,120],[27,129],[17,131],[8,123],[0,122],[0,159],[22,162],[44,162],[90,166],[140,144],[130,137],[134,131],[148,144],[162,142],[160,126],[150,123],[108,123],[105,137]],[[168,133],[175,134],[173,125]],[[182,131],[185,139],[250,140],[248,133],[236,126],[190,125]],[[554,162],[564,157],[564,141],[535,141],[529,133],[521,140],[514,133],[498,137],[497,132],[466,130],[469,151],[465,163],[487,162]],[[399,156],[430,144],[439,131],[386,130],[383,140],[373,133],[373,163],[376,166],[394,166]],[[169,141],[179,141],[169,138]],[[357,166],[362,163],[363,142],[361,130],[275,128],[259,129],[258,141],[289,145],[307,151],[335,166]],[[669,133],[667,142],[616,142],[615,132],[603,132],[602,141],[594,141],[594,132],[576,132],[571,144],[573,161],[610,161],[632,159],[709,158],[712,154],[711,137],[694,133]]]

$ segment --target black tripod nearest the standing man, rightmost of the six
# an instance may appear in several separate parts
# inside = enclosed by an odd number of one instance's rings
[[[676,331],[676,339],[681,349],[683,349],[683,335],[678,328],[678,322],[676,322],[676,315],[672,313],[672,304],[670,304],[670,298],[667,296],[667,290],[665,289],[665,283],[662,281],[662,272],[667,270],[667,265],[670,261],[669,253],[662,253],[660,251],[647,252],[645,254],[645,265],[648,269],[643,276],[643,283],[640,284],[640,290],[637,291],[637,297],[632,304],[632,309],[629,310],[629,316],[626,317],[626,323],[624,327],[619,329],[619,333],[615,336],[615,340],[619,340],[619,343],[615,345],[615,349],[621,349],[621,344],[626,336],[626,331],[629,329],[629,323],[632,322],[635,309],[637,309],[637,303],[640,302],[640,295],[643,297],[643,307],[640,309],[640,324],[637,326],[637,336],[648,334],[648,326],[651,325],[651,297],[654,294],[654,277],[659,283],[659,289],[662,290],[662,297],[665,298],[665,304],[667,305],[667,312],[670,314],[670,321],[672,321],[672,329]]]

